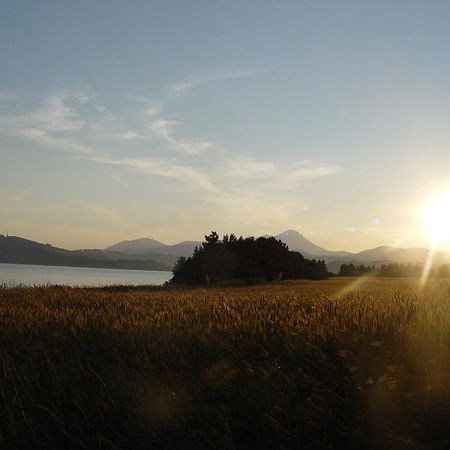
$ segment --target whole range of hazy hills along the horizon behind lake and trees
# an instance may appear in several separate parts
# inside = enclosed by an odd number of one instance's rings
[[[265,235],[265,237],[269,237]],[[426,248],[397,248],[380,246],[359,253],[333,251],[320,247],[298,231],[287,230],[275,236],[290,250],[302,253],[305,258],[325,260],[328,270],[339,272],[341,264],[376,265],[398,262],[402,264],[425,263]],[[0,235],[0,262],[21,264],[66,265],[77,267],[105,267],[121,269],[171,270],[180,256],[190,256],[199,241],[183,241],[167,245],[151,238],[122,241],[104,250],[65,250],[20,237]],[[436,252],[436,264],[450,263],[450,252]]]

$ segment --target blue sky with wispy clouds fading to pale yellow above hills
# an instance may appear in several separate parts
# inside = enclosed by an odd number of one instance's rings
[[[450,2],[0,0],[0,234],[426,245]]]

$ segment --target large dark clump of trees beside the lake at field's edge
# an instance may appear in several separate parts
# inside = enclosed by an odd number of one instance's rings
[[[173,268],[173,283],[209,284],[227,280],[247,282],[286,279],[325,279],[325,261],[305,259],[274,237],[220,239],[213,231],[189,258],[181,257]]]

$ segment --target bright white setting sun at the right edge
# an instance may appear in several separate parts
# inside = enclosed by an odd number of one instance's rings
[[[425,231],[436,247],[450,246],[450,188],[433,197],[424,210]]]

